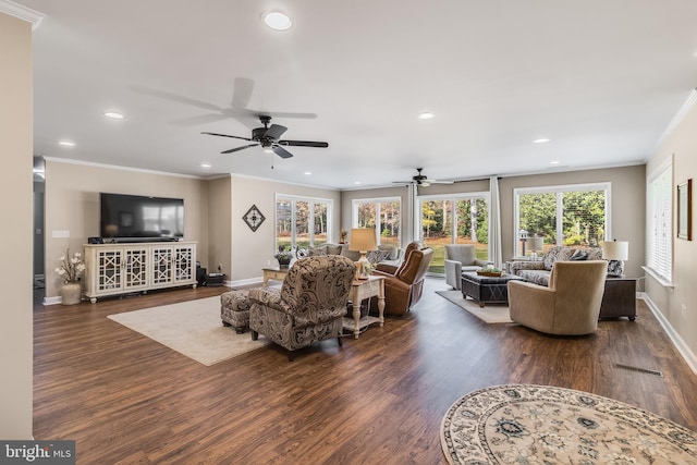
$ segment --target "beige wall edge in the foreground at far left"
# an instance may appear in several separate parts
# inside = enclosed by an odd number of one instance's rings
[[[32,439],[32,25],[0,13],[0,438]]]

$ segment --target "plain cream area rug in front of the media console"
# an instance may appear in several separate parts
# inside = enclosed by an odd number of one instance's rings
[[[220,320],[220,296],[109,315],[110,318],[206,366],[266,345]]]

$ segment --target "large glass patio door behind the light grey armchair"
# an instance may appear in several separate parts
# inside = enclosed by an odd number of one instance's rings
[[[445,272],[445,244],[475,244],[477,258],[489,259],[489,193],[423,196],[421,237],[433,249],[428,272]]]

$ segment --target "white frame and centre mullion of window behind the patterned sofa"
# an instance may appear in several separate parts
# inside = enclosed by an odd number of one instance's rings
[[[584,191],[604,191],[606,192],[606,241],[612,240],[612,224],[610,219],[612,218],[612,183],[586,183],[586,184],[564,184],[554,186],[539,186],[539,187],[517,187],[513,189],[513,250],[515,258],[524,258],[517,255],[518,245],[518,231],[521,227],[521,211],[519,211],[519,196],[523,194],[548,194],[548,193],[564,193],[564,192],[584,192]],[[557,217],[562,215],[561,198],[557,198]],[[557,237],[563,241],[564,225],[561,221],[557,222]]]

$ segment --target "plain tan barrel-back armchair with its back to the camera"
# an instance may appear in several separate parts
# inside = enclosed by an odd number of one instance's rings
[[[557,261],[549,287],[509,281],[511,319],[548,334],[596,332],[607,272],[604,260]]]

